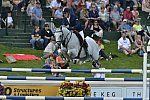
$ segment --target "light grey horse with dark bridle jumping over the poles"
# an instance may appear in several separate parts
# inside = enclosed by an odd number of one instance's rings
[[[80,45],[80,41],[76,34],[68,30],[65,26],[61,26],[60,31],[54,34],[56,44],[63,44],[63,47],[61,48],[62,54],[69,60],[75,59],[77,56],[79,57],[79,60],[83,60],[84,58],[90,58],[92,60],[92,67],[99,68],[100,49],[95,40],[93,40],[89,36],[85,38],[85,41],[88,45],[87,53],[89,56],[87,57],[86,52],[84,48]]]

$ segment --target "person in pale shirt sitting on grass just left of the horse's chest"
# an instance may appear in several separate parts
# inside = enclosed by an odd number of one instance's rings
[[[56,45],[55,44],[56,44],[56,41],[52,37],[50,43],[44,49],[43,57],[42,57],[43,59],[48,58],[50,56],[50,54],[57,54]]]

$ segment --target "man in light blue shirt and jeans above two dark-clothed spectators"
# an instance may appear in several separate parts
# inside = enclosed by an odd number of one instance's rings
[[[40,2],[37,2],[36,6],[32,10],[31,21],[33,25],[40,26],[40,28],[44,28],[45,19],[42,17],[42,9]]]

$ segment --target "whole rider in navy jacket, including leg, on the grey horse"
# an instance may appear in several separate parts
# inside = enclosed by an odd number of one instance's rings
[[[80,41],[80,45],[84,48],[86,55],[87,52],[87,43],[82,38],[81,34],[79,35],[79,32],[83,30],[80,22],[78,21],[77,17],[71,13],[69,8],[64,9],[64,18],[63,18],[63,25],[65,25],[69,30],[73,30],[73,32],[76,34]],[[79,56],[79,55],[78,55]]]

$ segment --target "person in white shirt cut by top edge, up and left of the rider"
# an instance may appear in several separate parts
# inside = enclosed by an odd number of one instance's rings
[[[61,6],[61,0],[52,0],[50,8],[52,10],[52,16],[54,16],[55,11]]]

